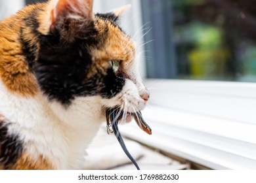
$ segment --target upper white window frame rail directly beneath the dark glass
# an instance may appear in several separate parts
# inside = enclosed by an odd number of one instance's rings
[[[150,80],[152,105],[256,124],[256,84]]]

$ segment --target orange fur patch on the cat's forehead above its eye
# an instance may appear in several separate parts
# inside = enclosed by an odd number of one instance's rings
[[[93,47],[92,56],[102,61],[122,60],[131,62],[135,58],[135,42],[116,23],[114,14],[96,14],[95,29],[98,40],[102,39],[101,47]]]

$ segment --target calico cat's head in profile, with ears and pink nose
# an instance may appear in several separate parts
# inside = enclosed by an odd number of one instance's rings
[[[135,62],[135,43],[117,24],[126,8],[93,14],[93,0],[49,2],[38,16],[35,74],[51,101],[68,107],[77,97],[99,96],[102,108],[145,107],[149,92]]]

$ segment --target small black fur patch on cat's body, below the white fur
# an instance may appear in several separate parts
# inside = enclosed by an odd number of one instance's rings
[[[9,134],[8,124],[0,121],[0,165],[9,169],[20,158],[22,151],[23,144],[18,135]]]

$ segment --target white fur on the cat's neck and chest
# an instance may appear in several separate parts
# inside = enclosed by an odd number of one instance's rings
[[[96,98],[78,98],[64,109],[58,103],[50,105],[43,95],[14,95],[0,82],[0,113],[11,121],[9,133],[18,133],[28,154],[47,157],[56,169],[81,169],[85,148],[102,120],[94,107]]]

